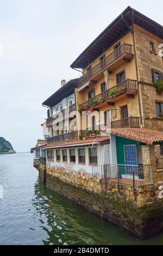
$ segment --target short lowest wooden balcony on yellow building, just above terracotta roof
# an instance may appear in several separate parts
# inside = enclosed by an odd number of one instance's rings
[[[139,117],[128,117],[111,122],[111,128],[140,128]]]

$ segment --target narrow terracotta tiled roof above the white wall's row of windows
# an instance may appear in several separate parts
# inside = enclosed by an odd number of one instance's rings
[[[46,148],[59,148],[59,147],[75,147],[77,145],[86,145],[86,144],[109,144],[109,137],[101,136],[95,137],[90,139],[84,139],[82,141],[65,141],[65,142],[58,142],[58,143],[48,143]]]

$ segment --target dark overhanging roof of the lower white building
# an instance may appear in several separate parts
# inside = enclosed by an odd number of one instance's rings
[[[53,107],[57,105],[62,99],[70,96],[74,93],[74,88],[77,87],[78,79],[72,79],[68,81],[64,86],[60,87],[57,92],[53,93],[47,100],[45,100],[42,105]]]

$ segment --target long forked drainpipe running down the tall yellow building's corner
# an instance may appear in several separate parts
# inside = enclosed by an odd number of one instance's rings
[[[132,38],[133,38],[133,46],[134,46],[134,59],[135,59],[135,69],[136,69],[136,84],[137,84],[137,93],[138,93],[138,103],[139,103],[139,114],[140,114],[140,127],[143,127],[142,124],[142,114],[141,114],[141,102],[140,102],[140,90],[139,90],[139,75],[138,75],[138,69],[137,69],[137,57],[136,57],[136,47],[135,47],[135,37],[134,37],[134,29],[133,29],[133,25],[134,25],[134,9],[132,9],[132,25],[131,28],[129,27],[127,21],[124,19],[123,15],[121,14],[122,20],[124,21],[124,23],[126,24],[126,26],[128,27]]]

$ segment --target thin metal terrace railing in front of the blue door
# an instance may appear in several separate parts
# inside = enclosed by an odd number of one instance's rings
[[[152,166],[109,164],[92,166],[93,179],[101,179],[132,186],[146,186],[153,184]]]

